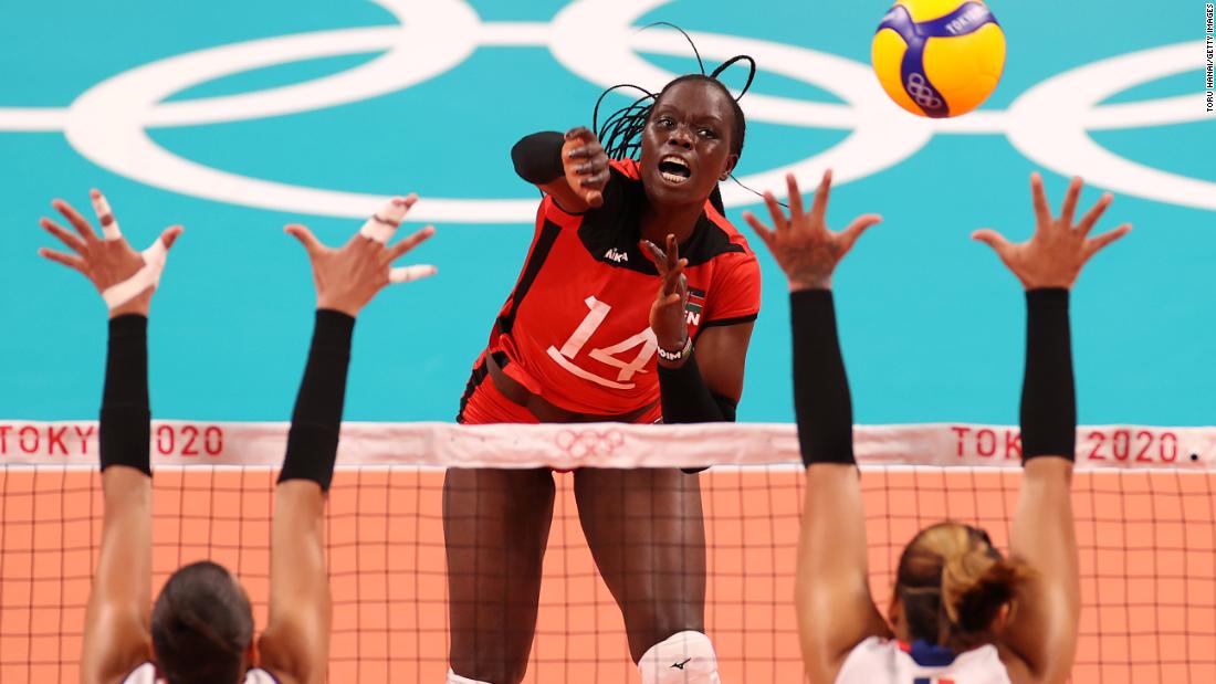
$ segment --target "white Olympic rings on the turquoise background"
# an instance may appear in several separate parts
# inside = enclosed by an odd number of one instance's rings
[[[675,73],[640,52],[687,56],[671,30],[638,32],[635,23],[672,0],[576,0],[550,23],[482,22],[465,0],[372,0],[398,26],[326,30],[252,40],[178,55],[111,77],[68,108],[0,108],[0,131],[62,130],[95,164],[152,187],[231,204],[322,216],[364,217],[379,194],[338,192],[242,176],[184,159],[156,143],[148,126],[184,126],[294,114],[384,95],[439,77],[478,47],[540,46],[569,72],[607,87],[658,86]],[[597,35],[598,41],[581,36]],[[958,119],[921,119],[882,92],[869,66],[849,58],[755,38],[691,32],[703,57],[739,52],[765,72],[809,83],[845,104],[803,102],[751,92],[743,98],[753,121],[850,130],[835,146],[777,169],[750,174],[748,186],[775,188],[787,173],[815,177],[835,170],[837,183],[885,170],[914,154],[935,134],[1004,134],[1017,151],[1063,175],[1099,187],[1197,209],[1216,210],[1216,182],[1145,166],[1103,148],[1091,130],[1182,124],[1205,117],[1203,92],[1125,104],[1098,103],[1156,79],[1194,68],[1201,41],[1166,45],[1102,60],[1052,77],[1023,92],[1006,111]],[[230,74],[294,61],[384,51],[337,74],[257,92],[164,102],[174,94]],[[606,78],[606,74],[609,78]],[[728,207],[755,196],[724,186]],[[426,198],[411,221],[530,222],[536,200]]]

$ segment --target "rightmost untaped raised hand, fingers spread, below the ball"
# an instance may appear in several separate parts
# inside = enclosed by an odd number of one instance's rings
[[[1047,203],[1042,176],[1037,173],[1030,174],[1030,190],[1035,203],[1035,234],[1026,242],[1014,244],[1001,233],[984,228],[972,233],[972,238],[991,247],[1026,289],[1070,289],[1081,267],[1091,256],[1132,230],[1131,224],[1124,224],[1108,233],[1088,237],[1090,231],[1114,199],[1109,192],[1074,225],[1073,217],[1082,186],[1080,177],[1073,179],[1064,196],[1060,215],[1057,217],[1052,216],[1052,208]]]

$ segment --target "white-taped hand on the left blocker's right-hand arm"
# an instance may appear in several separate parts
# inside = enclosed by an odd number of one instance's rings
[[[404,266],[394,268],[393,261],[410,251],[424,239],[435,234],[434,226],[401,239],[389,247],[388,241],[396,232],[401,219],[418,198],[394,197],[378,214],[364,224],[347,244],[326,247],[306,227],[293,224],[285,232],[300,241],[313,262],[313,279],[316,283],[316,307],[342,311],[358,316],[384,286],[407,283],[438,271],[434,266]]]

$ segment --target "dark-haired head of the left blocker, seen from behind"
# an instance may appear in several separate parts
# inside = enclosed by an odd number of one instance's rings
[[[238,684],[253,662],[248,594],[223,565],[180,567],[152,609],[152,648],[169,684]]]

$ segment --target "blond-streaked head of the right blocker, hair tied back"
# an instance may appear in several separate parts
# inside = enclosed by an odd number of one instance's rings
[[[1004,559],[984,530],[940,522],[903,548],[888,617],[906,641],[962,652],[1001,631],[1029,572]]]

